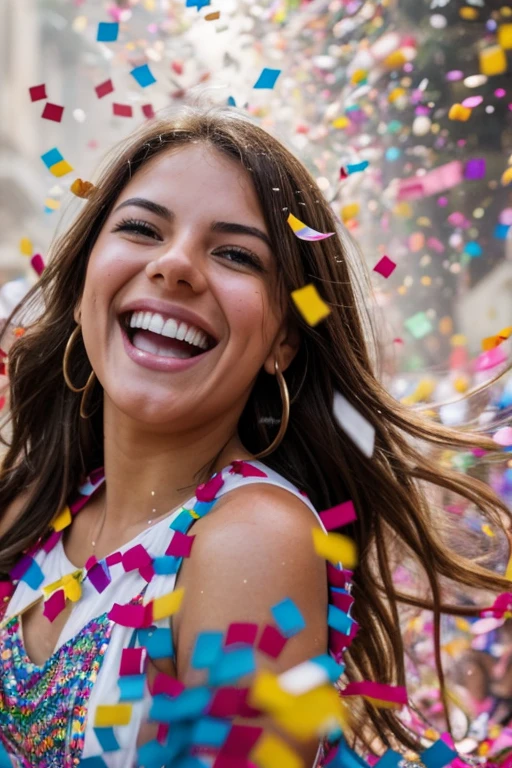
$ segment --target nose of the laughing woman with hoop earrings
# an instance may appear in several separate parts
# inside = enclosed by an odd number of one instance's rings
[[[146,266],[146,275],[169,291],[202,293],[207,287],[204,258],[192,236],[176,239]]]

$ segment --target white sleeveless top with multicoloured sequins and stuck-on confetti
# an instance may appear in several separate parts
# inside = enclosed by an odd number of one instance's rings
[[[101,475],[92,477],[70,505],[72,514],[102,484]],[[0,624],[0,765],[2,749],[19,768],[138,764],[137,735],[154,701],[143,660],[146,651],[150,658],[174,656],[169,612],[177,607],[171,604],[178,597],[174,587],[191,541],[186,531],[219,498],[256,483],[284,488],[301,499],[325,531],[309,499],[291,483],[260,462],[240,461],[99,564],[89,561],[84,569],[76,569],[64,552],[62,530],[54,530],[49,541],[24,556],[11,574],[14,591],[8,603],[4,598],[7,608]],[[69,512],[67,508],[54,521],[55,528],[70,524]],[[40,667],[24,650],[19,617],[42,595],[50,617],[63,608],[66,598],[76,602],[54,653]],[[153,743],[152,759],[155,750]],[[319,758],[320,750],[315,765]],[[149,765],[149,758],[144,764]]]

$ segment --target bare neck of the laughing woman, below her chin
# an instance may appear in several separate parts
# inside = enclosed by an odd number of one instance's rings
[[[158,433],[114,410],[105,398],[105,527],[124,529],[161,517],[235,459],[250,458],[236,421],[186,433]]]

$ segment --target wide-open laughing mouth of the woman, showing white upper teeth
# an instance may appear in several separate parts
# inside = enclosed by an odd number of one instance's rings
[[[202,328],[158,312],[127,312],[121,315],[120,323],[133,347],[158,357],[187,360],[217,345]]]

